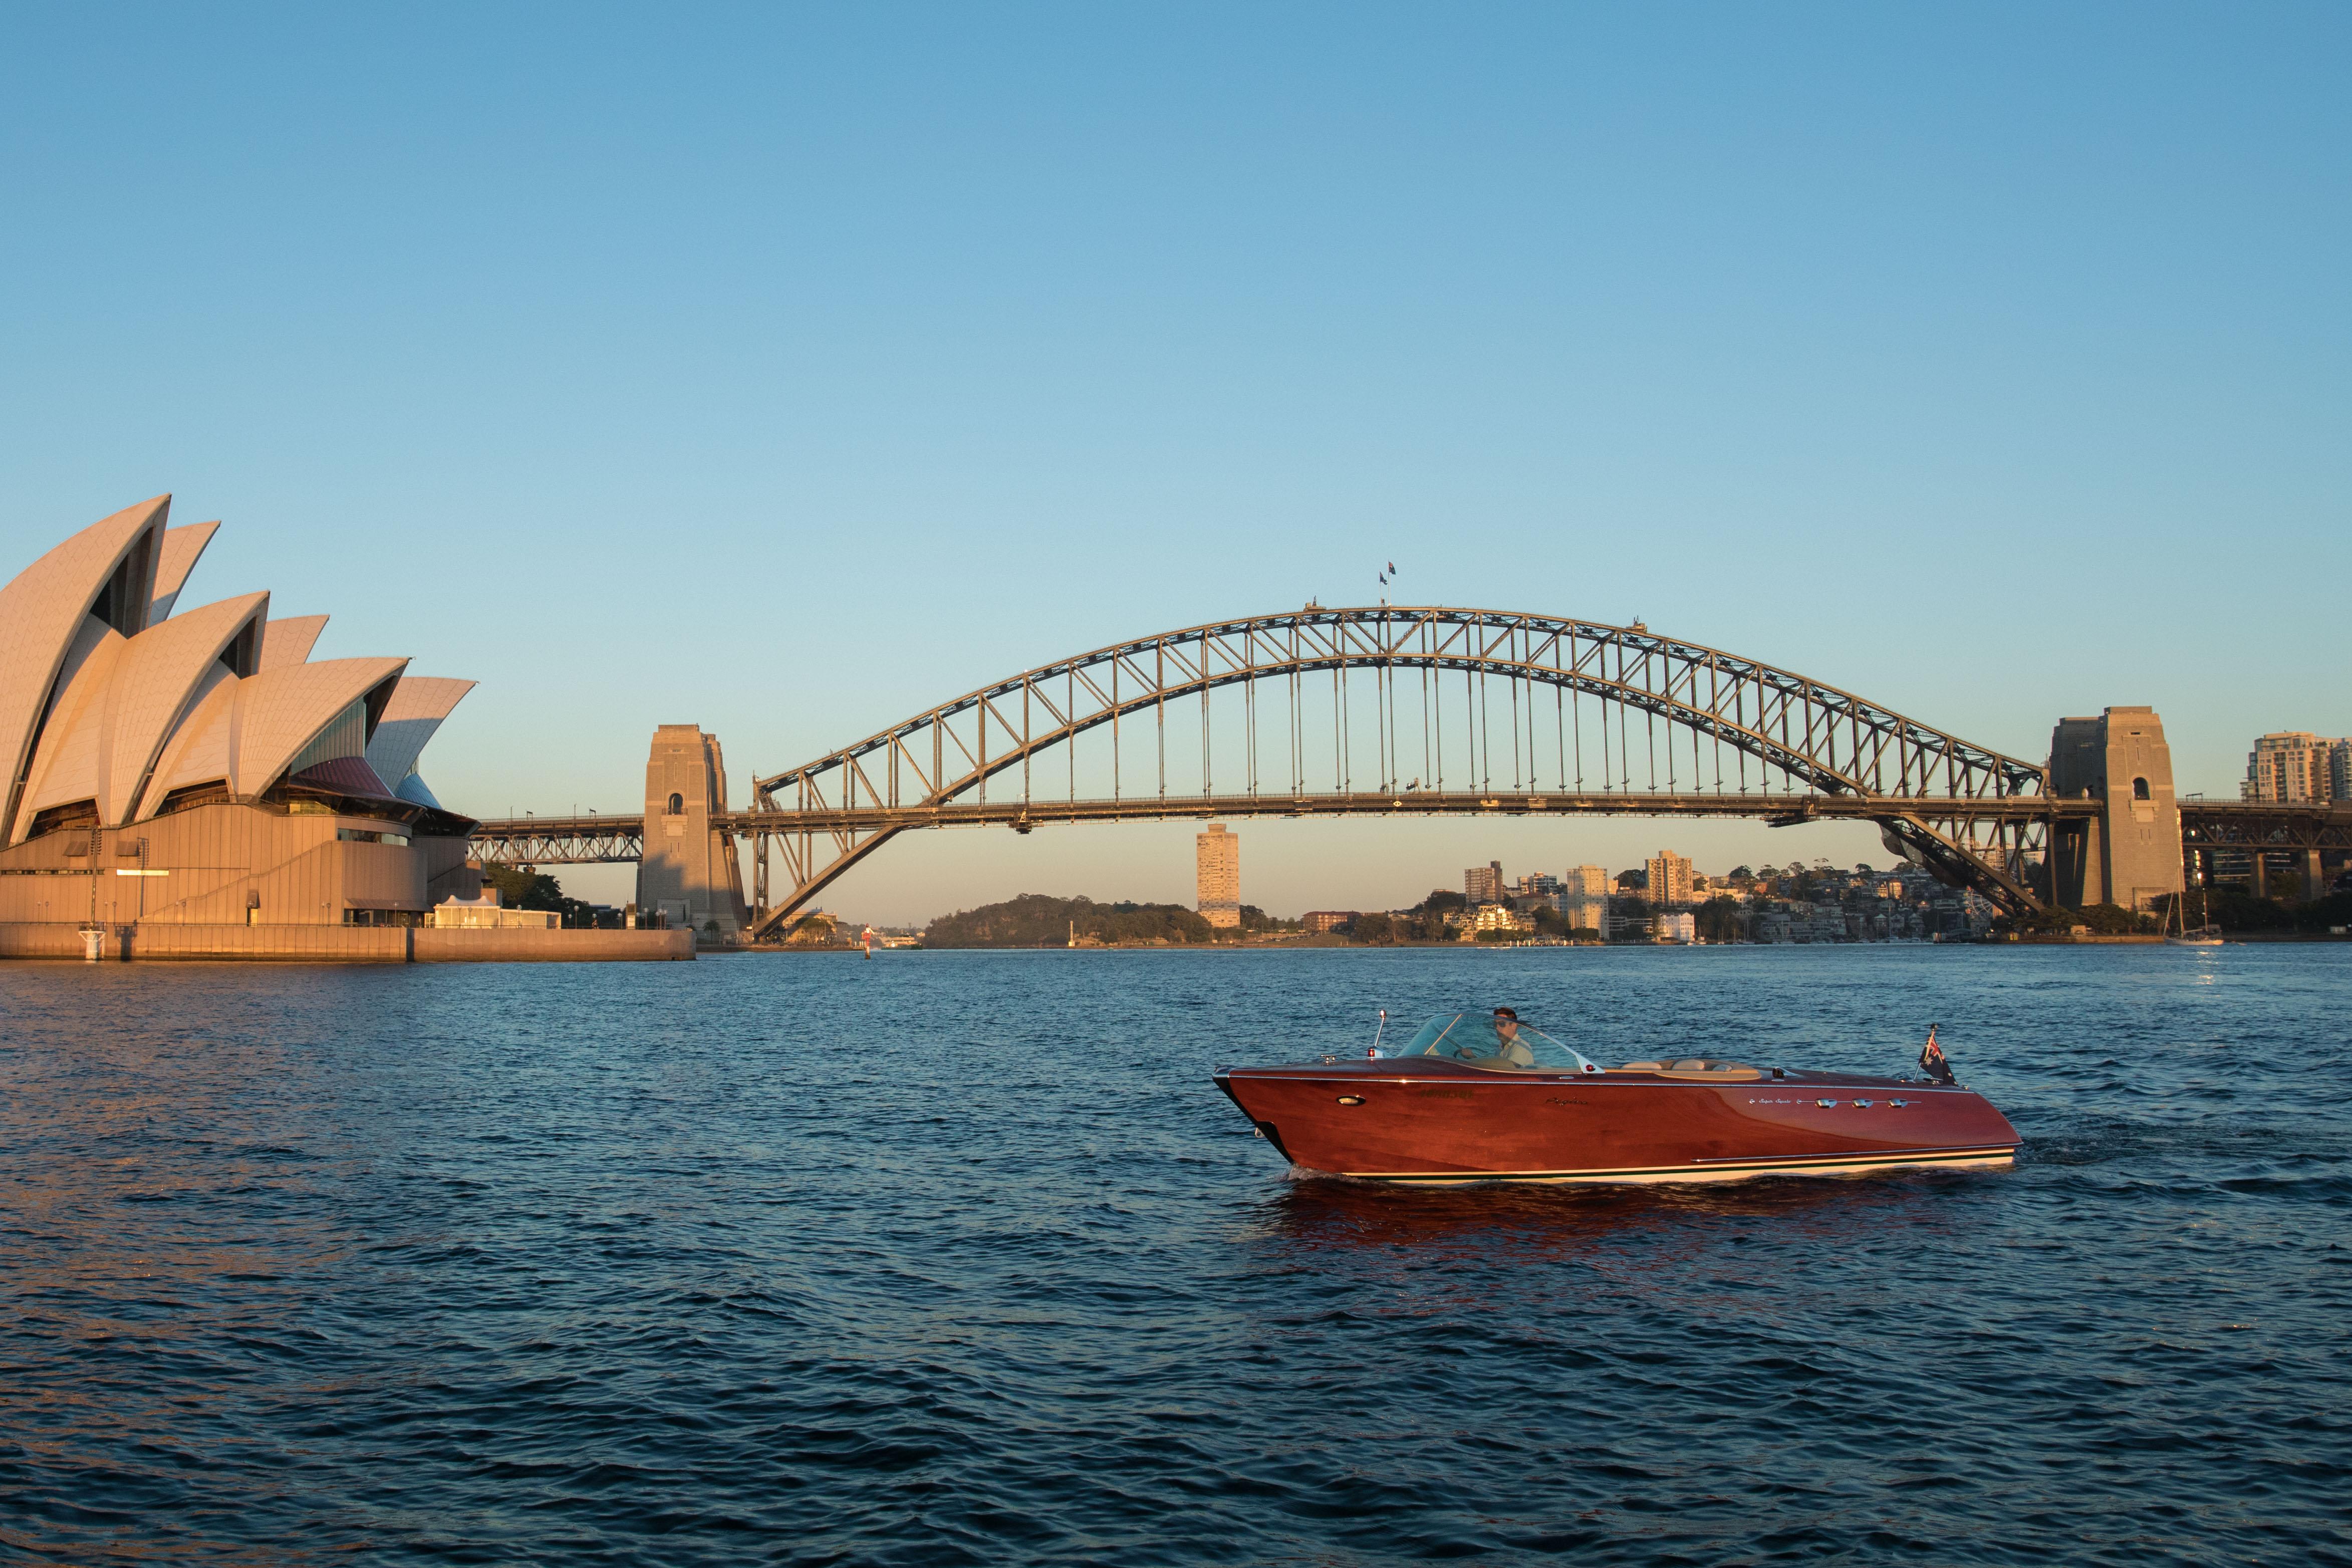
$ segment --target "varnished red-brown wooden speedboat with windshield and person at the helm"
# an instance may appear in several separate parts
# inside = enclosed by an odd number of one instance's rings
[[[1294,1166],[1383,1182],[1698,1182],[2006,1166],[2018,1150],[1957,1084],[1724,1058],[1602,1067],[1505,1023],[1442,1013],[1388,1053],[1218,1067],[1216,1086]]]

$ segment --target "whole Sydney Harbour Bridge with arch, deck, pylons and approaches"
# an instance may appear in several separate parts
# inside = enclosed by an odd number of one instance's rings
[[[1806,675],[1632,625],[1392,607],[1218,621],[1009,675],[854,745],[659,797],[649,816],[485,820],[485,860],[642,860],[750,849],[750,931],[767,938],[915,827],[1249,816],[1743,816],[1867,820],[1889,851],[2009,912],[2100,903],[2131,842],[2161,839],[2154,886],[2216,851],[2288,853],[2317,882],[2352,809],[2173,802],[2126,731],[2089,762],[2027,762]],[[668,736],[670,731],[661,731]],[[687,733],[694,733],[691,729]],[[661,750],[656,736],[656,757]],[[2096,738],[2096,736],[2093,736]],[[2133,741],[2131,745],[2138,745]],[[715,755],[715,750],[713,750]],[[2129,752],[2138,757],[2140,752]],[[2105,766],[2105,759],[2119,766]],[[2124,771],[2138,769],[2124,778]],[[2110,776],[2114,773],[2114,776]],[[781,865],[781,877],[776,867]],[[727,875],[734,875],[731,870]],[[2140,891],[2150,872],[2138,872]],[[2129,893],[2112,893],[2129,900]]]

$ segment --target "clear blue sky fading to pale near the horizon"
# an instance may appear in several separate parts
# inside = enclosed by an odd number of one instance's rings
[[[0,571],[132,501],[188,604],[480,689],[475,816],[741,804],[1202,621],[1632,621],[2183,792],[2352,733],[2340,5],[7,7]],[[1190,903],[1195,825],[828,896]],[[1875,832],[1244,823],[1244,898],[1886,860]],[[567,872],[626,898],[623,867]]]

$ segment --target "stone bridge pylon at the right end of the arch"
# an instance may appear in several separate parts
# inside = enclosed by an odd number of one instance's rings
[[[2096,719],[2058,719],[2051,790],[2105,809],[2053,844],[2058,903],[2147,910],[2185,891],[2173,752],[2154,708],[2107,708]]]

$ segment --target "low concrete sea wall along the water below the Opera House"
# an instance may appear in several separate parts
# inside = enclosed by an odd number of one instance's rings
[[[80,959],[82,929],[0,922],[0,959]],[[691,959],[691,931],[433,931],[409,926],[108,926],[106,959],[294,964],[614,964]]]

